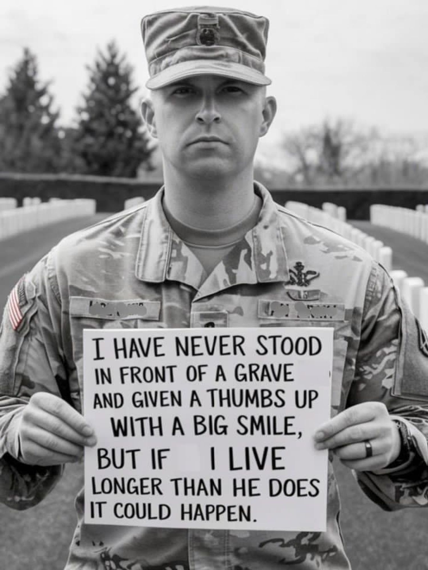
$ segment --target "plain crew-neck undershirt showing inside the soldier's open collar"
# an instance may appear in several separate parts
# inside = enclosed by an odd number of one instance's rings
[[[163,209],[172,229],[196,255],[205,273],[209,275],[232,247],[241,241],[247,231],[257,224],[261,205],[261,198],[255,194],[251,210],[238,223],[219,230],[205,230],[199,227],[188,226],[174,218],[164,203]]]

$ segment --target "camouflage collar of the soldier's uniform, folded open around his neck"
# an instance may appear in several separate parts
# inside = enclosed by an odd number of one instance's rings
[[[263,200],[259,221],[205,280],[196,256],[171,229],[162,207],[161,188],[146,207],[135,275],[138,279],[161,283],[173,280],[197,290],[199,296],[239,283],[287,281],[288,263],[284,236],[276,204],[268,190],[255,182]],[[206,290],[206,291],[205,291]]]

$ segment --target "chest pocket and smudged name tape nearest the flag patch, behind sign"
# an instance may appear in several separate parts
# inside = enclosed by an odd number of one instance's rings
[[[73,360],[80,389],[83,380],[83,330],[85,328],[156,328],[160,301],[142,299],[109,300],[93,297],[70,298],[70,332]]]

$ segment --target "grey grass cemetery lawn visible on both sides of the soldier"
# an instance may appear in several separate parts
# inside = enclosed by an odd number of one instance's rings
[[[22,274],[63,235],[104,216],[69,220],[0,242],[0,307]],[[371,233],[368,222],[358,222],[358,227]],[[428,283],[426,244],[385,228],[373,229],[372,234],[393,248],[394,268],[421,276]],[[428,512],[424,508],[382,511],[360,491],[348,469],[339,462],[335,469],[342,499],[342,531],[353,570],[428,570]],[[74,498],[82,485],[83,464],[68,465],[54,491],[39,505],[26,511],[0,506],[2,570],[63,569],[76,524]]]

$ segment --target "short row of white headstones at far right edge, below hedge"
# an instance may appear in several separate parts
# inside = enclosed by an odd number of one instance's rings
[[[373,204],[370,206],[370,222],[376,226],[390,227],[428,243],[428,205],[419,204],[415,210],[411,210]]]

